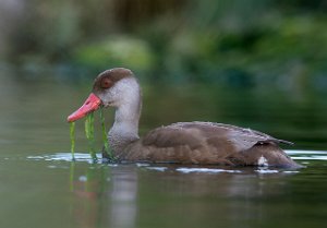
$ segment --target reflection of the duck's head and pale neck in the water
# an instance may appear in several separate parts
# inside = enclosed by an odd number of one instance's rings
[[[134,227],[136,218],[137,175],[133,167],[90,166],[84,176],[75,177],[71,166],[72,204],[81,227]],[[109,178],[110,177],[110,178]],[[77,179],[77,180],[76,180]]]

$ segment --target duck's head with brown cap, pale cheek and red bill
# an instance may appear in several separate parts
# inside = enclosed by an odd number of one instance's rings
[[[70,115],[68,121],[76,121],[100,106],[119,107],[137,95],[138,84],[131,70],[114,68],[104,71],[95,79],[93,91],[82,107]]]

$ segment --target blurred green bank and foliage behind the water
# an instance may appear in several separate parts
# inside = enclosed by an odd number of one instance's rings
[[[325,89],[326,10],[325,0],[1,0],[1,67]]]

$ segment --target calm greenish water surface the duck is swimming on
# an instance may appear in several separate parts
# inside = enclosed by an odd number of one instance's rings
[[[210,86],[144,87],[141,132],[177,121],[251,127],[295,142],[300,170],[107,165],[66,116],[90,84],[0,73],[0,227],[324,227],[327,106],[323,92]],[[89,83],[93,80],[89,80]],[[106,122],[112,111],[106,110]],[[95,147],[101,148],[96,115]],[[98,155],[99,157],[99,155]]]

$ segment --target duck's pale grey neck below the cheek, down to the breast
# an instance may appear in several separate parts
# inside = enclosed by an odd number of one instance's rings
[[[114,123],[108,133],[108,140],[114,154],[120,154],[138,136],[138,120],[141,115],[140,92],[126,97],[125,101],[117,107]]]

